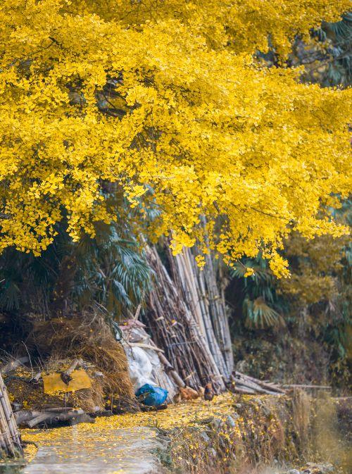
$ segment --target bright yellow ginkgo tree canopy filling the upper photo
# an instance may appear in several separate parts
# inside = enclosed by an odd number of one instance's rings
[[[175,253],[260,252],[287,275],[290,232],[346,232],[327,209],[351,190],[351,90],[303,84],[285,57],[348,6],[3,0],[0,251],[40,254],[63,218],[74,240],[94,236],[115,219],[113,185],[134,229]],[[269,45],[281,66],[255,60]]]

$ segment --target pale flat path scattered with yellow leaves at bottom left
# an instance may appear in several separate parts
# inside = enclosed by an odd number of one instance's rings
[[[80,425],[56,430],[23,474],[149,474],[158,460],[158,447],[150,428],[83,430]]]

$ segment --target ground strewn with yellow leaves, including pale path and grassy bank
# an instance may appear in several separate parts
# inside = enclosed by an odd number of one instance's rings
[[[347,473],[351,459],[341,437],[339,404],[303,392],[283,397],[222,394],[164,411],[97,418],[94,424],[23,430],[23,439],[39,447],[25,474],[142,474],[149,472],[143,470],[144,461],[154,468],[161,462],[178,474],[251,472],[253,466],[273,464],[279,472],[278,466],[305,466],[307,461],[329,462]],[[54,451],[60,470],[35,470],[46,449]],[[62,470],[65,463],[69,470]]]

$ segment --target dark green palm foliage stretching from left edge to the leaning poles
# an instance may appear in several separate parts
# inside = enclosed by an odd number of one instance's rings
[[[111,318],[143,303],[153,276],[142,249],[118,225],[96,225],[94,239],[73,242],[63,225],[39,257],[7,249],[0,256],[0,311],[63,313],[94,308]],[[123,233],[126,233],[123,231]]]

